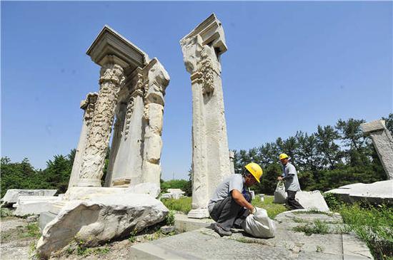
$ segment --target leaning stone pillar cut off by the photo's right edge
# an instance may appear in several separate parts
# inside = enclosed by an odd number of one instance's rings
[[[369,133],[377,150],[379,160],[388,180],[393,180],[393,138],[384,120],[375,120],[361,125],[364,133]]]

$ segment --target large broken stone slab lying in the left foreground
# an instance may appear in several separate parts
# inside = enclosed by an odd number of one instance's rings
[[[149,194],[96,194],[67,202],[55,219],[46,224],[37,243],[41,258],[64,248],[73,240],[97,246],[129,236],[163,221],[168,214],[158,199]]]

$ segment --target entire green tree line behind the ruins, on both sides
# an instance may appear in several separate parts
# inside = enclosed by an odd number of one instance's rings
[[[387,129],[393,134],[393,113],[387,118]],[[304,190],[319,189],[326,191],[354,182],[376,182],[386,180],[385,172],[372,141],[364,135],[360,124],[364,120],[338,120],[336,125],[320,126],[311,134],[298,131],[287,139],[277,138],[249,150],[234,151],[235,172],[241,173],[248,162],[257,162],[262,166],[264,175],[261,185],[253,189],[258,193],[272,194],[277,184],[277,177],[282,173],[278,155],[287,153],[297,167],[299,182]],[[54,155],[46,162],[44,170],[36,170],[29,160],[11,162],[9,157],[1,157],[1,197],[7,189],[58,189],[66,192],[76,150],[69,155]],[[104,167],[109,162],[106,153]],[[181,188],[191,195],[191,172],[188,181],[161,180],[161,188]]]

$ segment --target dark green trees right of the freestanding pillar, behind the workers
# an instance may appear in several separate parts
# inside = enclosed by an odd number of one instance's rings
[[[382,119],[393,135],[393,113]],[[372,140],[360,128],[362,123],[365,121],[340,119],[335,125],[318,125],[313,133],[298,131],[287,139],[278,137],[275,142],[259,147],[235,150],[235,172],[241,173],[248,162],[257,162],[262,166],[264,175],[261,184],[253,189],[273,194],[277,177],[282,174],[278,155],[284,152],[297,168],[303,190],[327,191],[354,182],[386,180]]]

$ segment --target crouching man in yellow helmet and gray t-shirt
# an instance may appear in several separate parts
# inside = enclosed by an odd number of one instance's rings
[[[262,168],[254,162],[245,166],[242,175],[234,174],[219,184],[208,204],[209,214],[216,223],[213,229],[220,236],[230,236],[231,228],[240,223],[256,209],[251,202],[251,194],[246,187],[250,187],[262,176]]]

